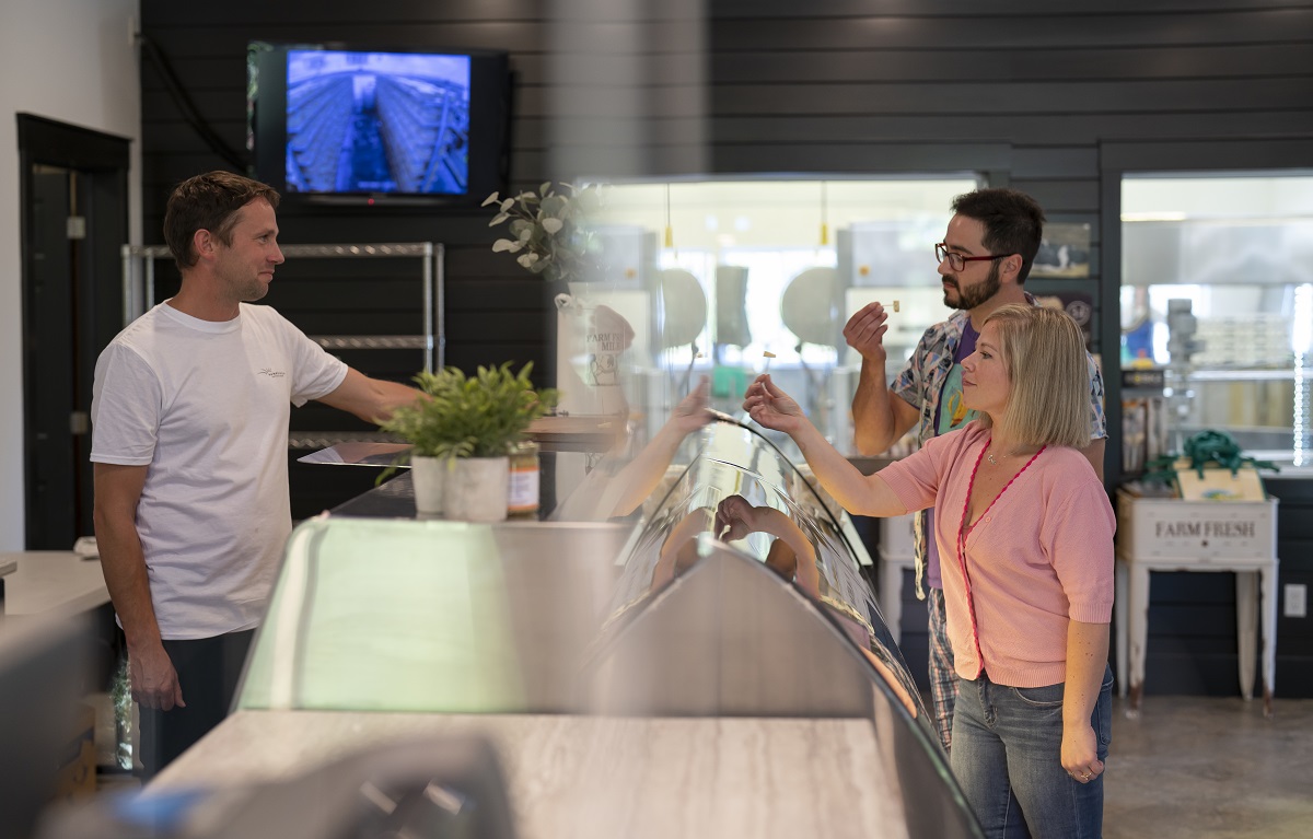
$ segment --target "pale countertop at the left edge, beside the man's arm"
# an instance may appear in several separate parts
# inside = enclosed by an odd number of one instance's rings
[[[4,576],[3,616],[47,612],[85,612],[109,603],[100,559],[84,559],[71,550],[0,553],[0,566],[17,562]]]

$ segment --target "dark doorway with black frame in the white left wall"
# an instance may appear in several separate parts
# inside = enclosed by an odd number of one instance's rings
[[[122,328],[129,140],[18,114],[28,550],[92,534],[91,387]]]

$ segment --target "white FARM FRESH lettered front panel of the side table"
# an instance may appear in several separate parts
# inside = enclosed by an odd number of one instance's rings
[[[1117,492],[1117,553],[1144,558],[1276,555],[1276,499],[1186,502]]]

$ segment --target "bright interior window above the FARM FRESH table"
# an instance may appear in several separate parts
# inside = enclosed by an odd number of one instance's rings
[[[1313,179],[1128,179],[1121,239],[1121,368],[1183,377],[1167,383],[1167,448],[1220,429],[1247,456],[1313,462]],[[1174,347],[1173,306],[1194,328]],[[1162,407],[1155,393],[1127,399],[1132,423]],[[1124,466],[1142,461],[1138,439]]]

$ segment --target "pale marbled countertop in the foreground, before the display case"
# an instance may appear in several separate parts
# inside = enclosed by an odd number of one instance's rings
[[[243,710],[146,788],[290,779],[389,739],[483,733],[524,839],[906,836],[867,720]]]

